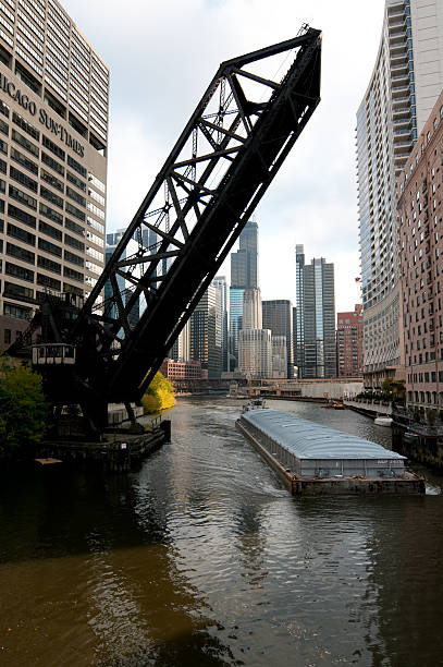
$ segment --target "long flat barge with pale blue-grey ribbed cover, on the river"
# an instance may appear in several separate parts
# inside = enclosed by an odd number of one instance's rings
[[[424,494],[406,457],[278,410],[243,413],[237,428],[293,495]]]

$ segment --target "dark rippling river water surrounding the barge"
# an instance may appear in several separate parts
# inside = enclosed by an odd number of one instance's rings
[[[271,408],[390,446],[350,411]],[[127,476],[1,478],[0,665],[443,665],[443,476],[293,498],[239,409],[180,399],[172,442]]]

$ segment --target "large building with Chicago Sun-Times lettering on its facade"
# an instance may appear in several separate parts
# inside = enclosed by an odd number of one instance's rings
[[[104,266],[109,70],[54,0],[0,0],[0,349]]]

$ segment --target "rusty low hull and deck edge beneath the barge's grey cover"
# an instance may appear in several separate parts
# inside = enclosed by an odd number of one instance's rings
[[[278,474],[285,487],[294,496],[321,495],[423,495],[424,480],[415,473],[404,471],[399,476],[368,477],[352,476],[302,476],[294,471],[290,452],[285,459],[284,450],[270,447],[269,436],[263,436],[257,428],[251,428],[247,419],[242,415],[236,422],[237,429],[251,442],[260,457]],[[339,432],[335,432],[339,433]],[[261,436],[261,437],[260,437]],[[271,451],[270,451],[271,450]]]

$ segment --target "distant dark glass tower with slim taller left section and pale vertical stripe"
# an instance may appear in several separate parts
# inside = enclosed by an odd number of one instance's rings
[[[305,265],[303,245],[297,245],[298,279],[303,286],[296,286],[298,376],[335,377],[334,265],[323,257]]]

